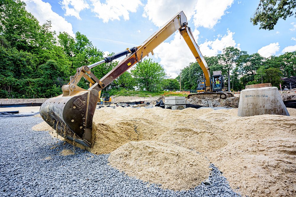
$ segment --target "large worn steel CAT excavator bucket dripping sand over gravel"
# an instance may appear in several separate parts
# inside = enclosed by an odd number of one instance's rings
[[[95,138],[92,119],[98,98],[95,89],[52,97],[41,105],[40,115],[60,136],[92,147]]]

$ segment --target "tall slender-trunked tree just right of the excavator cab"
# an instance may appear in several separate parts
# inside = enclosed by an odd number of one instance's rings
[[[217,58],[221,65],[223,65],[223,68],[227,69],[228,74],[228,91],[230,91],[230,70],[235,65],[237,59],[240,56],[240,51],[237,48],[234,47],[227,47],[223,49],[222,54],[218,54]]]

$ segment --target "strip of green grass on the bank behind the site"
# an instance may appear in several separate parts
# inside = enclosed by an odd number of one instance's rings
[[[188,93],[185,92],[171,92],[171,91],[158,91],[158,92],[150,92],[150,91],[143,91],[143,90],[126,90],[121,89],[118,91],[112,92],[110,95],[117,95],[117,96],[138,96],[138,97],[154,97],[154,96],[176,96],[176,97],[186,97]]]

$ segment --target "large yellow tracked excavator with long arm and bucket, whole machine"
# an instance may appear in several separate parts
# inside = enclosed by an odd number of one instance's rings
[[[138,47],[127,48],[115,55],[107,56],[97,63],[77,68],[76,74],[70,76],[70,82],[62,86],[62,95],[49,98],[41,105],[41,117],[60,136],[86,147],[92,147],[95,139],[95,132],[92,131],[92,121],[99,92],[133,65],[141,62],[143,57],[148,56],[149,53],[153,55],[153,49],[177,30],[181,33],[204,73],[205,86],[203,92],[196,95],[201,94],[210,97],[221,97],[222,95],[223,97],[228,97],[228,94],[218,92],[213,88],[215,85],[215,88],[219,89],[217,83],[213,82],[214,78],[210,79],[210,70],[193,38],[191,29],[188,27],[187,18],[184,12],[181,11]],[[101,79],[98,79],[91,72],[91,68],[99,64],[109,63],[125,55],[126,57]],[[91,84],[87,90],[77,85],[82,77]],[[222,76],[215,77],[215,80],[220,77],[220,81],[222,81]],[[193,96],[191,95],[190,97]]]

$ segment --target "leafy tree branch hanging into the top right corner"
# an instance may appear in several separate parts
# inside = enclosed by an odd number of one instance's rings
[[[295,8],[295,0],[260,0],[250,20],[253,25],[260,23],[259,29],[273,30],[280,18],[286,20],[293,15],[296,17]]]

